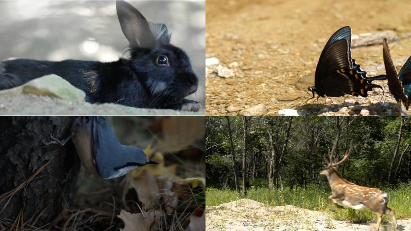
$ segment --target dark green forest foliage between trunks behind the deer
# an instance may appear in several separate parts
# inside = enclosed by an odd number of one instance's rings
[[[229,119],[237,160],[234,167],[242,172],[242,121],[240,117]],[[353,152],[344,164],[338,166],[341,175],[367,187],[398,187],[401,182],[408,182],[411,178],[411,148],[404,153],[403,151],[411,142],[411,120],[403,120],[402,137],[394,159],[401,117],[340,117],[342,133],[335,160],[342,158],[351,140],[354,142]],[[279,159],[279,152],[284,146],[284,130],[289,121],[287,117],[252,117],[246,147],[248,185],[266,187],[270,163],[274,161],[279,167],[278,176],[274,176],[276,188],[280,188],[281,183],[291,191],[299,187],[307,189],[310,185],[329,187],[327,179],[319,172],[325,164],[323,155],[327,155],[335,140],[336,118],[293,118],[289,141],[282,153],[284,159]],[[224,134],[227,131],[226,124],[224,117],[207,117],[206,179],[208,186],[233,189],[233,163],[229,142]],[[272,144],[269,143],[269,132],[275,138]],[[392,180],[388,182],[387,176],[393,159]]]

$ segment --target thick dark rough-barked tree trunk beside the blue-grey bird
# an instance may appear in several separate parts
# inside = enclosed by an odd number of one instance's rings
[[[39,216],[35,227],[55,219],[63,208],[72,209],[80,160],[72,142],[46,145],[50,135],[63,140],[71,134],[73,117],[8,117],[0,119],[0,217],[14,220],[22,210],[23,221]],[[12,196],[33,174],[50,163]],[[10,199],[11,197],[11,199]],[[6,203],[8,202],[7,206]],[[5,207],[6,206],[6,207]]]

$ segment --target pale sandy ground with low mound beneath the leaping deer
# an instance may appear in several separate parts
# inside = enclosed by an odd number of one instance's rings
[[[298,208],[271,207],[250,199],[240,199],[219,206],[207,206],[206,231],[370,231],[375,222],[352,224],[332,219],[331,213]],[[399,219],[398,230],[411,231],[411,219]],[[395,230],[392,223],[381,225],[380,231]]]

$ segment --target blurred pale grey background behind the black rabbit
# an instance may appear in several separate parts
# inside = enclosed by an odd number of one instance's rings
[[[185,50],[205,105],[205,1],[127,1],[148,21],[166,24],[171,43]],[[0,59],[111,62],[127,57],[115,1],[1,1]]]

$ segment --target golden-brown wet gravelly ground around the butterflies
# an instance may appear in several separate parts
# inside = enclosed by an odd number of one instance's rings
[[[329,105],[324,104],[324,98],[307,105],[305,101],[312,96],[307,87],[314,85],[323,46],[343,26],[351,26],[353,37],[383,30],[395,32],[397,42],[391,41],[389,46],[395,65],[402,67],[411,55],[408,1],[229,0],[222,4],[220,0],[207,0],[206,15],[206,58],[218,58],[219,64],[228,68],[233,62],[238,65],[235,76],[209,74],[206,78],[207,115],[234,115],[257,104],[265,105],[266,115],[278,115],[281,109],[308,113],[316,109],[311,115],[317,115],[324,106],[335,111],[335,105],[342,106],[347,99],[351,106],[373,107],[381,102],[388,107],[385,114],[391,114],[389,110],[397,105],[386,81],[374,82],[385,88],[369,92],[367,98],[333,97]],[[358,46],[351,54],[368,76],[385,74],[381,44]],[[308,85],[298,83],[300,77]],[[230,110],[230,106],[239,110]],[[411,114],[404,107],[393,111]]]

